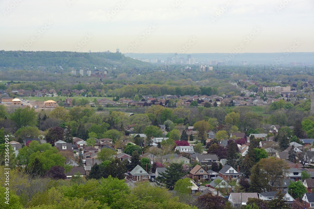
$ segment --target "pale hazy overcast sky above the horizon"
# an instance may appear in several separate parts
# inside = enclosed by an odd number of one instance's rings
[[[1,0],[0,9],[0,50],[314,51],[313,0]]]

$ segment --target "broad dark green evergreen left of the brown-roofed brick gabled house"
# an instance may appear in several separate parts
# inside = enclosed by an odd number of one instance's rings
[[[173,188],[177,180],[186,175],[186,173],[184,173],[182,169],[182,164],[172,163],[165,170],[165,173],[161,173],[161,177],[165,178],[165,184],[168,189]]]

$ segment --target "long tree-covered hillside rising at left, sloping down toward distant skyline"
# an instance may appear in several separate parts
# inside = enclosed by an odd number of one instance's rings
[[[0,51],[0,68],[15,70],[45,70],[58,71],[59,66],[68,71],[74,69],[97,69],[125,67],[149,68],[151,64],[125,57],[121,53],[81,53],[81,52],[52,52],[52,51]]]

